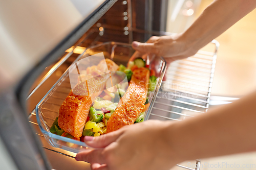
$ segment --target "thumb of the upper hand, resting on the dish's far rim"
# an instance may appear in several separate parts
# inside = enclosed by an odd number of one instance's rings
[[[157,48],[154,43],[141,43],[133,41],[132,47],[141,53],[157,53]]]

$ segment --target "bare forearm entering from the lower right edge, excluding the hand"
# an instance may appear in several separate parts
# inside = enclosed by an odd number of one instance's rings
[[[183,160],[256,151],[256,92],[204,115],[170,125]]]

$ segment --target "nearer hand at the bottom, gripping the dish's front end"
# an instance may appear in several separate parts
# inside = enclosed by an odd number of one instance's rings
[[[90,162],[93,170],[170,169],[183,161],[168,140],[171,125],[147,120],[99,137],[86,136],[86,143],[96,149],[78,153],[76,160]]]

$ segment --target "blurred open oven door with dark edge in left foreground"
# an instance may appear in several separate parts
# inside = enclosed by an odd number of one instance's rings
[[[116,1],[0,2],[0,169],[51,169],[28,121],[29,90]]]

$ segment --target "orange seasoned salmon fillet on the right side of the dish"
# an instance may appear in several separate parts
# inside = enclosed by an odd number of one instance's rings
[[[108,120],[106,133],[132,125],[145,107],[150,71],[144,67],[133,71],[130,85]]]

